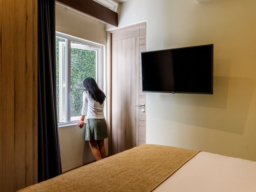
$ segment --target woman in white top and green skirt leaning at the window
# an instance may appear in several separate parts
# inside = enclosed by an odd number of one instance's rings
[[[86,116],[85,140],[89,141],[92,154],[98,161],[106,156],[104,139],[108,137],[108,133],[103,112],[106,96],[92,77],[86,78],[83,85],[85,91],[83,92],[82,116],[78,124],[82,128]]]

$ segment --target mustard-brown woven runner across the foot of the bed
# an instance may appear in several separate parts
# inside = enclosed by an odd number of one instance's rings
[[[199,151],[144,144],[19,192],[152,191]]]

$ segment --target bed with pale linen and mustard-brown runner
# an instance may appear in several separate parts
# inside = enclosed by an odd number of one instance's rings
[[[30,191],[256,191],[256,162],[145,144],[21,189]]]

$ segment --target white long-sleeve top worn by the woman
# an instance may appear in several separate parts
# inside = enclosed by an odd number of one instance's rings
[[[83,92],[83,108],[81,115],[85,115],[86,119],[104,119],[104,102],[100,104],[94,101],[87,91]]]

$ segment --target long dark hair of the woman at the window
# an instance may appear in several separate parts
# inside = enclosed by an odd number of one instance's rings
[[[105,101],[106,95],[100,90],[96,81],[92,77],[88,77],[83,82],[84,88],[89,92],[94,101],[98,101],[102,104]]]

